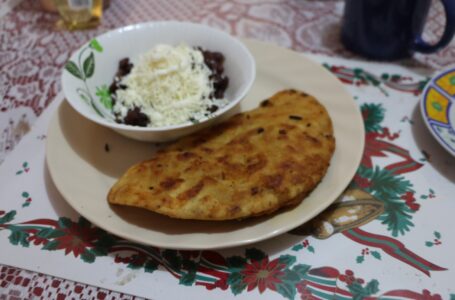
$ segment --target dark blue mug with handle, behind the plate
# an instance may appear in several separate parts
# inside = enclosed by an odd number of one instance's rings
[[[341,41],[357,54],[394,60],[447,46],[455,33],[455,0],[441,0],[446,26],[434,45],[422,39],[431,0],[346,0]]]

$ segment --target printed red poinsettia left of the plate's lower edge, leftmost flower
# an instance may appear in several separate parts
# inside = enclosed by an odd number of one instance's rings
[[[72,252],[75,257],[78,257],[86,249],[92,248],[93,242],[98,239],[96,227],[79,226],[77,223],[73,223],[63,231],[65,235],[55,238],[57,242],[55,249],[65,249],[65,255]]]

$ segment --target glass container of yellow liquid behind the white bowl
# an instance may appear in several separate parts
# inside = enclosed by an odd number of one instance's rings
[[[61,20],[57,24],[70,30],[93,28],[103,15],[103,0],[54,0]]]

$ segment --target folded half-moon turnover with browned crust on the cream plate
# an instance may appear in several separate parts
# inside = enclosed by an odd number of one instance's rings
[[[334,149],[325,108],[286,90],[132,166],[108,201],[181,219],[269,214],[300,203],[325,175]]]

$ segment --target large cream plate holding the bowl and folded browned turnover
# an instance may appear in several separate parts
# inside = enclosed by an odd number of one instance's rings
[[[47,137],[47,163],[55,185],[82,216],[120,237],[174,249],[212,249],[257,242],[310,220],[345,189],[355,174],[364,146],[358,106],[342,84],[303,55],[256,41],[245,41],[257,65],[252,90],[242,111],[275,92],[294,88],[314,95],[334,125],[336,150],[319,186],[300,205],[244,221],[175,220],[137,208],[111,206],[106,195],[132,164],[153,156],[156,146],[133,141],[81,117],[66,102],[59,107]]]

